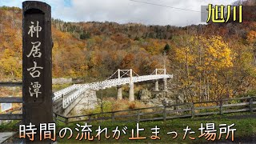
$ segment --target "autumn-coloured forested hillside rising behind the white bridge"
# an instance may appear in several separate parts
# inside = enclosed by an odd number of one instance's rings
[[[247,2],[246,4],[250,4]],[[117,69],[174,74],[170,90],[188,101],[250,94],[256,84],[256,22],[145,26],[52,19],[54,78],[106,79]],[[0,8],[0,79],[22,78],[22,10]]]

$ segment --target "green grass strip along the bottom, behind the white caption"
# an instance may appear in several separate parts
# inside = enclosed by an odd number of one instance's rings
[[[253,118],[254,116],[254,118]],[[17,121],[15,121],[17,123]],[[7,125],[1,125],[0,130],[1,131],[18,131],[18,126],[15,122],[11,122]],[[92,125],[91,130],[93,130],[92,135],[95,137],[97,134],[95,130],[98,129],[98,126],[101,126],[102,129],[105,127],[108,128],[108,135],[111,137],[109,139],[105,138],[105,134],[102,134],[102,138],[100,142],[107,142],[107,143],[127,143],[127,142],[136,142],[136,143],[205,143],[208,142],[205,137],[198,138],[200,135],[200,128],[201,123],[203,126],[206,126],[206,123],[215,123],[215,129],[217,130],[217,138],[214,142],[231,142],[231,135],[226,140],[226,134],[222,135],[222,139],[218,140],[219,135],[219,125],[220,124],[235,124],[234,127],[236,131],[234,132],[234,142],[250,142],[252,138],[255,138],[256,133],[256,121],[255,121],[255,113],[236,113],[236,114],[223,114],[223,115],[211,115],[211,116],[205,116],[205,117],[195,117],[195,118],[178,118],[178,119],[172,119],[168,120],[166,122],[162,121],[155,121],[155,122],[140,122],[139,128],[144,128],[144,131],[140,131],[139,135],[146,137],[146,139],[142,140],[129,140],[131,137],[131,129],[134,129],[136,131],[136,122],[90,122],[90,125]],[[79,123],[81,126],[84,125],[83,122]],[[112,130],[115,130],[116,126],[118,126],[119,130],[122,130],[124,126],[127,126],[128,130],[126,130],[126,134],[123,134],[121,131],[121,137],[119,140],[116,140],[112,138],[113,132]],[[150,136],[152,135],[151,128],[154,128],[155,126],[158,126],[160,128],[160,133],[158,136],[161,138],[160,140],[151,140]],[[186,126],[189,126],[192,131],[194,131],[194,134],[187,134],[186,138],[183,139],[183,135],[185,131],[183,129],[186,129]],[[78,128],[76,126],[76,123],[70,123],[68,126],[65,126],[62,122],[57,122],[57,131],[61,130],[63,127],[70,127],[71,130],[73,130],[73,137],[70,139],[67,139],[69,134],[66,134],[65,138],[57,138],[58,143],[74,143],[74,142],[89,142],[85,139],[82,139],[82,141],[75,140],[78,132],[75,130],[75,128]],[[82,130],[80,128],[80,130]],[[175,139],[172,139],[174,135],[167,134],[168,132],[176,131],[178,133],[178,137]],[[136,134],[136,132],[135,132]],[[58,134],[57,134],[58,135]],[[196,138],[195,140],[190,140],[190,137]],[[94,138],[94,142],[99,142],[98,138]]]

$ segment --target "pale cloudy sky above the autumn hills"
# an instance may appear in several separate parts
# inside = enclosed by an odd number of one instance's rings
[[[0,0],[0,6],[22,8],[24,0]],[[41,0],[52,17],[66,22],[118,22],[188,26],[201,22],[201,6],[228,5],[236,0]]]

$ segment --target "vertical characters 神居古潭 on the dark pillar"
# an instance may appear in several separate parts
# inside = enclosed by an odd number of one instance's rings
[[[30,22],[31,26],[29,26],[30,30],[28,34],[31,38],[39,38],[39,32],[42,31],[42,27],[39,26],[39,22]],[[36,26],[35,26],[36,25]],[[41,42],[30,42],[32,44],[30,54],[26,54],[27,58],[34,58],[34,66],[27,69],[30,72],[30,76],[32,78],[39,78],[41,75],[41,70],[43,70],[42,66],[38,66],[38,62],[35,58],[41,58],[42,52],[40,51]],[[38,98],[38,94],[42,94],[40,91],[41,84],[38,81],[31,82],[29,86],[30,97]]]

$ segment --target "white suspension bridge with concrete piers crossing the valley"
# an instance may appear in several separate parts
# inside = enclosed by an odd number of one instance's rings
[[[155,90],[158,88],[158,80],[163,79],[163,89],[167,90],[167,78],[173,78],[172,74],[167,74],[166,69],[156,69],[150,75],[139,76],[132,69],[117,70],[102,82],[92,82],[86,84],[74,84],[54,93],[54,111],[68,114],[70,110],[82,99],[84,94],[90,93],[90,90],[103,90],[117,86],[118,99],[122,99],[122,85],[129,84],[129,101],[134,101],[134,82],[155,81]]]

